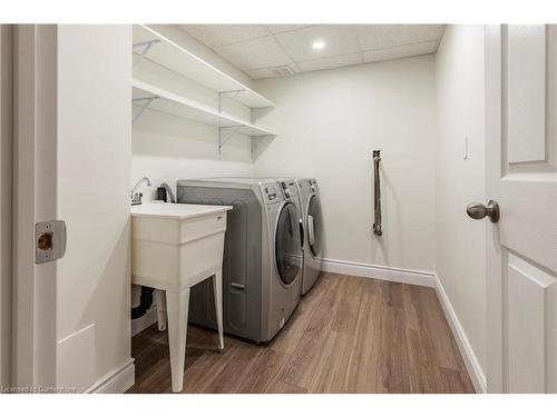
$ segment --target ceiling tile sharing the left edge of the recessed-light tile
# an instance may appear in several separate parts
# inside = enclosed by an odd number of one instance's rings
[[[280,67],[292,62],[272,36],[226,44],[215,50],[242,70]]]

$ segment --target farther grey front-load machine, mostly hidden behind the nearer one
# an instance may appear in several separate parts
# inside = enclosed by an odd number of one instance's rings
[[[297,179],[296,182],[300,191],[304,228],[302,295],[305,295],[316,282],[322,270],[323,212],[321,210],[317,180],[303,178]]]

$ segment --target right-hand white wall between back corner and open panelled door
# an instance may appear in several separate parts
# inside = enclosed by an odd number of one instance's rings
[[[436,83],[436,271],[485,370],[486,222],[466,215],[468,203],[486,201],[483,27],[447,27]]]

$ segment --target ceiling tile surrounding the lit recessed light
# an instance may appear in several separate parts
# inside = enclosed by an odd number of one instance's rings
[[[353,26],[349,24],[312,26],[291,32],[277,33],[275,38],[294,61],[307,61],[359,51]],[[316,40],[324,41],[325,48],[315,51],[312,44]]]

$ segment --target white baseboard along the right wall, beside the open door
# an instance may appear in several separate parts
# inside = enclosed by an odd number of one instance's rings
[[[470,375],[470,378],[472,380],[473,388],[476,389],[476,393],[486,394],[487,381],[486,376],[481,370],[480,363],[478,361],[478,358],[473,353],[472,346],[470,345],[470,341],[466,336],[465,329],[462,328],[462,325],[457,317],[457,312],[452,308],[449,297],[447,296],[447,292],[444,292],[441,280],[437,275],[434,275],[434,281],[437,297],[441,302],[441,307],[444,311],[444,317],[449,322],[449,327],[451,328],[452,336],[455,337],[455,340],[457,340],[460,355],[462,355],[462,359],[465,360],[466,369],[468,370],[468,374]]]

